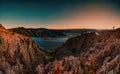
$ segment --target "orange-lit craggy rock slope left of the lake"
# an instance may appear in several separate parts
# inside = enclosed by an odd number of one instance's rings
[[[30,38],[9,32],[0,25],[0,74],[35,74],[45,54]]]

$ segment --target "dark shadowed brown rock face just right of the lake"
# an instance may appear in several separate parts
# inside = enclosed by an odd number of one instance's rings
[[[70,38],[65,44],[55,51],[55,58],[61,59],[65,56],[80,56],[93,49],[98,42],[96,33],[87,33],[78,37]]]

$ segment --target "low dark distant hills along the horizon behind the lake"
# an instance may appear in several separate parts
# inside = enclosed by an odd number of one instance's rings
[[[87,32],[97,32],[95,29],[66,29],[66,30],[55,30],[55,29],[46,29],[46,28],[12,28],[9,29],[12,32],[28,36],[28,37],[43,37],[43,38],[53,38],[53,37],[65,37],[65,36],[77,36]],[[101,30],[105,32],[109,30]]]

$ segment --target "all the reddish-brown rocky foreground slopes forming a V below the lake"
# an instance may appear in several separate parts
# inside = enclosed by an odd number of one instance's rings
[[[82,33],[52,53],[23,34],[0,25],[0,74],[120,74],[120,28]]]

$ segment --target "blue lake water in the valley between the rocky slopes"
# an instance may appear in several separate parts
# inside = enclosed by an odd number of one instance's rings
[[[62,38],[52,38],[52,39],[43,39],[38,37],[31,37],[32,40],[34,40],[36,43],[40,45],[40,47],[48,50],[55,50],[57,47],[62,45],[66,40],[68,40],[68,37],[62,37]]]

